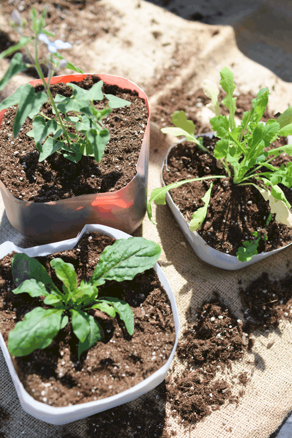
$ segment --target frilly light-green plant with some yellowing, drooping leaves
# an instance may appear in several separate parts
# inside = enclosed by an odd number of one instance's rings
[[[253,99],[253,108],[243,113],[241,123],[237,126],[235,120],[237,98],[233,97],[235,90],[233,73],[227,67],[224,67],[220,72],[220,76],[220,85],[227,93],[222,100],[222,104],[229,110],[229,117],[219,113],[219,89],[216,85],[211,81],[204,81],[204,92],[211,99],[211,103],[207,105],[208,108],[216,114],[215,117],[210,119],[211,126],[217,137],[219,137],[213,155],[225,170],[226,175],[192,178],[154,189],[147,205],[148,217],[155,223],[152,220],[152,201],[164,205],[166,193],[173,188],[193,181],[229,177],[238,186],[252,185],[255,187],[265,201],[269,201],[271,213],[275,213],[275,220],[292,227],[291,205],[278,185],[281,183],[289,188],[292,186],[292,162],[288,162],[286,165],[282,164],[280,168],[270,163],[274,157],[283,152],[292,156],[292,145],[267,149],[279,136],[292,134],[292,107],[284,111],[276,120],[269,119],[265,124],[260,122],[269,98],[269,90],[263,88]],[[187,141],[194,142],[201,147],[201,139],[197,140],[194,136],[195,126],[193,122],[186,119],[183,111],[175,112],[172,121],[176,128],[162,128],[162,132],[175,136],[185,135]],[[208,150],[207,152],[211,153]],[[266,170],[261,171],[262,167],[265,167]],[[212,183],[202,198],[204,206],[195,211],[192,216],[193,219],[190,221],[191,231],[200,228],[205,219],[211,191]],[[257,254],[261,237],[258,235],[254,237],[256,237],[256,240],[244,242],[243,246],[239,248],[237,258],[240,261],[250,260],[254,254]]]

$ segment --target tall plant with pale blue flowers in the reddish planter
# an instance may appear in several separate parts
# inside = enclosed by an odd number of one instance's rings
[[[39,162],[55,152],[62,153],[73,163],[80,161],[82,155],[94,157],[99,162],[110,140],[110,132],[104,128],[102,119],[108,116],[112,109],[125,107],[130,105],[130,102],[112,94],[104,94],[102,92],[103,81],[94,84],[90,90],[83,90],[75,84],[68,84],[73,89],[71,97],[57,94],[55,99],[53,98],[50,84],[57,70],[67,67],[78,73],[83,72],[58,52],[60,49],[71,48],[72,45],[69,42],[63,42],[60,39],[50,41],[49,37],[54,37],[54,34],[45,30],[45,16],[46,9],[40,17],[37,16],[36,10],[32,9],[31,29],[34,36],[28,37],[24,35],[27,23],[21,19],[17,11],[14,11],[12,24],[18,31],[20,39],[16,45],[0,54],[1,59],[17,52],[0,80],[0,90],[13,76],[34,67],[43,83],[44,91],[36,93],[31,84],[21,85],[17,91],[0,103],[0,110],[18,105],[13,126],[14,137],[18,136],[27,117],[33,119],[33,129],[27,135],[35,139]],[[48,56],[39,60],[38,45],[41,42],[47,45]],[[23,61],[22,55],[18,53],[21,48],[25,48],[30,62]],[[44,77],[42,65],[48,68],[47,79]],[[104,98],[108,99],[107,105],[102,110],[97,110],[93,105],[94,101],[101,101]],[[42,105],[46,102],[53,107],[53,118],[47,117],[41,111]]]

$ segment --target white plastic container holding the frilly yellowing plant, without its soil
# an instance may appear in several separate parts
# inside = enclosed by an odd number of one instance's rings
[[[214,134],[212,132],[207,133],[207,134],[201,134],[201,136],[204,136],[204,135],[208,136],[209,138],[212,138]],[[183,138],[182,140],[180,140],[177,143],[182,143],[184,141],[185,141],[185,138]],[[163,179],[163,168],[164,168],[165,164],[167,166],[167,158],[168,158],[170,150],[174,146],[176,146],[177,143],[170,146],[170,148],[167,151],[167,154],[166,154],[166,157],[164,160],[164,164],[163,164],[162,169],[161,169],[161,181],[162,181],[163,185],[165,185],[164,179]],[[289,144],[292,143],[292,136],[288,137],[288,143]],[[166,167],[166,170],[167,170],[167,167]],[[209,265],[216,266],[217,268],[226,269],[228,271],[235,271],[237,269],[242,269],[248,265],[256,263],[257,261],[263,260],[266,257],[272,256],[273,254],[276,254],[278,251],[281,251],[292,244],[292,243],[289,243],[288,245],[284,246],[283,248],[278,248],[276,250],[269,251],[268,253],[257,254],[256,256],[253,256],[251,260],[241,262],[237,259],[236,256],[231,256],[230,254],[221,253],[220,251],[209,246],[207,244],[207,242],[196,231],[190,231],[189,222],[187,222],[186,219],[184,219],[180,209],[172,201],[172,198],[168,192],[166,193],[166,203],[169,206],[170,211],[171,211],[174,219],[177,221],[178,225],[180,226],[181,230],[183,231],[184,236],[188,240],[189,244],[191,245],[191,247],[193,248],[193,250],[195,251],[197,256],[200,257],[201,260],[203,260],[204,262],[209,263]]]

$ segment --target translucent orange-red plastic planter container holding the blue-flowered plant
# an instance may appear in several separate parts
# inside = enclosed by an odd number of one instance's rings
[[[86,74],[56,76],[51,84],[81,81]],[[86,223],[113,226],[132,233],[146,213],[146,191],[149,155],[149,105],[147,96],[137,85],[120,76],[100,74],[105,84],[137,91],[145,100],[148,121],[143,136],[135,177],[123,188],[107,193],[86,194],[51,202],[29,202],[17,199],[0,181],[0,190],[10,223],[23,235],[38,242],[76,237]],[[36,86],[41,80],[30,82]],[[0,123],[5,110],[0,112]]]

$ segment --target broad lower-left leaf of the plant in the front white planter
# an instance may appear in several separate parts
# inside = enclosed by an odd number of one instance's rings
[[[36,307],[26,313],[8,336],[8,350],[12,356],[26,356],[37,348],[52,343],[61,328],[63,309]]]

